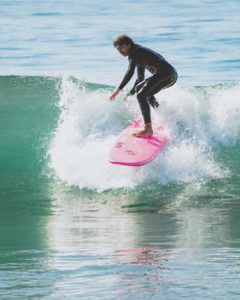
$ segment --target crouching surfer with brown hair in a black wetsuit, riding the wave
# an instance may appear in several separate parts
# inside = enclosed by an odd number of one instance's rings
[[[151,49],[135,44],[133,40],[122,34],[113,42],[114,47],[123,56],[128,56],[128,70],[116,91],[109,98],[115,100],[119,92],[132,78],[137,67],[137,80],[126,95],[137,94],[138,103],[143,115],[145,124],[144,130],[134,133],[134,136],[151,136],[153,134],[150,105],[153,108],[159,106],[155,94],[160,90],[170,87],[177,81],[176,70],[158,53]],[[145,79],[145,69],[152,73],[152,76]]]

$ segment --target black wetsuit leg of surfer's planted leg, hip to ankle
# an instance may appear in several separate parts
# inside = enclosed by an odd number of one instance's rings
[[[158,93],[164,88],[170,87],[177,80],[177,74],[172,73],[166,76],[162,74],[154,74],[152,77],[140,82],[136,86],[137,99],[143,115],[144,123],[151,122],[151,112],[148,100],[156,100],[154,94]],[[154,97],[154,99],[152,98]]]

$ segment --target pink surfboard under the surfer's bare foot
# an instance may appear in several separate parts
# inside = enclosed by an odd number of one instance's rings
[[[133,133],[141,130],[141,121],[133,121],[124,129],[109,153],[112,164],[123,166],[143,166],[154,160],[168,142],[163,127],[154,127],[151,137],[134,137]]]

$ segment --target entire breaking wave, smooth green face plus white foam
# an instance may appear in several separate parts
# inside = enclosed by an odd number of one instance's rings
[[[169,144],[151,164],[112,165],[108,152],[130,120],[135,97],[113,103],[113,87],[72,77],[0,77],[1,184],[58,178],[93,190],[178,184],[240,174],[240,84],[181,88],[157,95],[155,125]],[[15,176],[16,175],[16,176]],[[47,176],[46,176],[47,175]]]

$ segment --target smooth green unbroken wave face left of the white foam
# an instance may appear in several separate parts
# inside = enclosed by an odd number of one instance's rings
[[[0,187],[9,197],[13,190],[37,190],[40,181],[48,180],[60,84],[51,77],[0,77]]]

